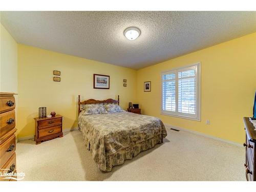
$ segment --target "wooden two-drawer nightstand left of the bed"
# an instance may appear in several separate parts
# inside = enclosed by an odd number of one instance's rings
[[[41,143],[41,141],[63,137],[61,115],[55,115],[51,118],[34,118],[34,120],[36,144]]]

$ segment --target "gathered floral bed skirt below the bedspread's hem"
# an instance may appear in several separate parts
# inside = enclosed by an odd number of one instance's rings
[[[142,141],[140,143],[136,143],[133,146],[126,147],[116,152],[115,154],[106,154],[106,168],[103,170],[102,166],[99,164],[99,169],[102,170],[103,172],[111,172],[113,166],[121,165],[123,164],[124,160],[132,159],[133,157],[137,156],[140,152],[149,150],[150,148],[153,148],[156,144],[162,142],[163,137],[161,134],[151,139]]]

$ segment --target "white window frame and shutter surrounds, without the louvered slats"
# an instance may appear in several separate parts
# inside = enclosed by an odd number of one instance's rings
[[[178,112],[178,71],[182,71],[185,68],[189,67],[197,67],[196,68],[196,86],[197,86],[197,108],[196,108],[196,114],[187,114],[187,113],[180,113]],[[175,78],[176,78],[176,83],[175,83],[175,103],[176,103],[176,111],[164,111],[162,110],[163,108],[163,79],[162,76],[164,74],[168,73],[175,73]],[[185,119],[190,119],[190,120],[196,120],[196,121],[201,121],[201,62],[193,63],[188,66],[183,66],[180,68],[174,68],[172,70],[168,71],[163,71],[161,73],[161,115],[168,115],[168,116],[173,116],[173,117],[179,117],[179,118],[185,118]]]

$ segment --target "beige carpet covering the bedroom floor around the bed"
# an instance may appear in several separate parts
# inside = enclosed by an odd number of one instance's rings
[[[110,173],[98,170],[79,131],[39,145],[32,140],[20,141],[17,171],[25,172],[26,181],[245,180],[243,147],[184,131],[167,132],[164,143],[113,167]]]

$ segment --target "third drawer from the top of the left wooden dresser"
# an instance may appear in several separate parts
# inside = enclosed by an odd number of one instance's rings
[[[0,145],[0,168],[8,161],[16,150],[16,137],[12,135]]]

